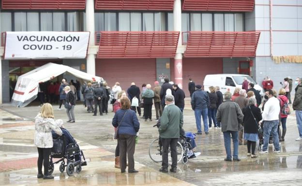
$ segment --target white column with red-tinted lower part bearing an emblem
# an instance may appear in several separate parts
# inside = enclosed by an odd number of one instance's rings
[[[181,0],[174,1],[173,7],[173,17],[174,17],[174,31],[179,31],[178,47],[182,46],[182,2]],[[178,84],[178,87],[182,89],[182,54],[178,53],[175,55],[174,60],[174,83]]]

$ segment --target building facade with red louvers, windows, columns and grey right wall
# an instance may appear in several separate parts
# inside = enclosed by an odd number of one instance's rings
[[[189,95],[190,77],[203,84],[220,73],[249,74],[259,84],[270,76],[278,89],[302,70],[300,12],[300,0],[2,0],[0,97],[9,102],[16,78],[47,62],[124,90],[169,77]],[[6,31],[89,31],[87,57],[6,60]]]

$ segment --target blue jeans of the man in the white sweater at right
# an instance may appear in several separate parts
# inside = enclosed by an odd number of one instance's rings
[[[267,151],[269,135],[272,133],[275,150],[280,150],[278,135],[279,120],[263,121],[263,151]]]

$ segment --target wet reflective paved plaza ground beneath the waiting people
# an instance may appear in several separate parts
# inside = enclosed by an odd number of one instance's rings
[[[56,110],[55,119],[67,121],[65,110]],[[1,110],[2,109],[2,110]],[[109,114],[92,116],[80,104],[76,106],[76,123],[65,127],[76,138],[87,159],[88,165],[74,176],[59,171],[55,165],[54,180],[37,179],[37,150],[33,144],[34,117],[40,107],[15,108],[3,105],[0,108],[0,185],[302,185],[302,142],[298,137],[294,112],[287,120],[285,142],[281,142],[281,153],[258,158],[246,156],[246,146],[239,146],[240,162],[225,162],[223,133],[211,129],[210,134],[198,135],[195,151],[200,156],[178,163],[177,173],[161,173],[161,164],[153,162],[148,154],[149,144],[158,137],[156,121],[140,120],[140,139],[135,151],[136,174],[121,174],[114,168],[116,140],[112,107]],[[7,111],[7,112],[6,112]],[[155,113],[153,110],[153,118]],[[185,131],[196,132],[194,112],[186,100],[184,111]],[[127,171],[126,171],[127,172]]]

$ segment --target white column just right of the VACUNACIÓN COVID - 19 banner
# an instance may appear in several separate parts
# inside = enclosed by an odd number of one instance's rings
[[[86,29],[90,32],[89,46],[95,45],[94,0],[86,0]],[[95,75],[95,55],[87,55],[87,73]]]

